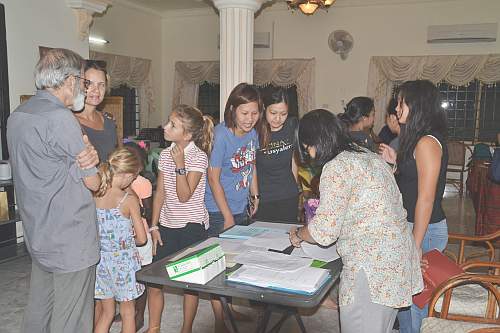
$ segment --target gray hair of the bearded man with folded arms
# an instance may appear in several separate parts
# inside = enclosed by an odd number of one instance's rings
[[[67,49],[50,49],[35,66],[35,86],[37,89],[57,89],[70,75],[81,75],[85,60]]]

